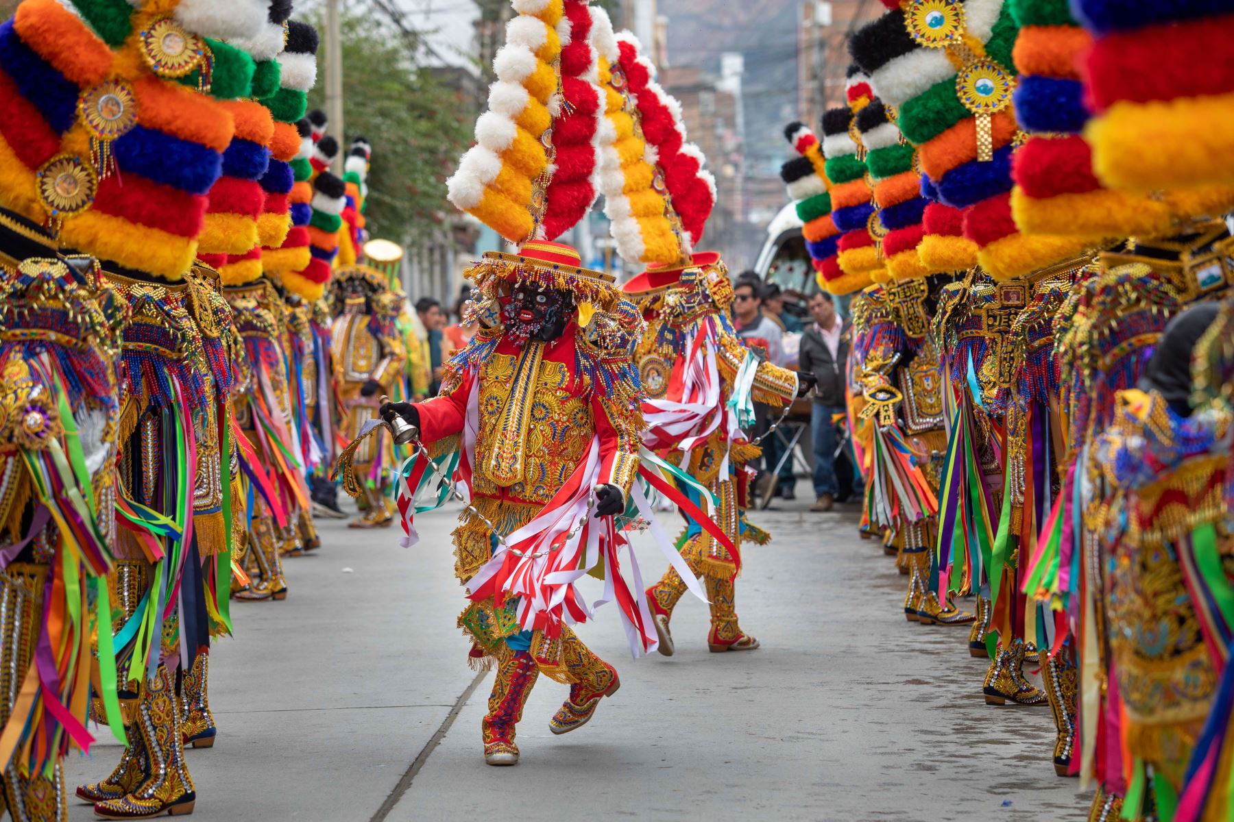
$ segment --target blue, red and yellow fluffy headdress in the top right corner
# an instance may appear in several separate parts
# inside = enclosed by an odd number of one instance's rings
[[[1085,136],[1107,186],[1234,185],[1234,10],[1220,0],[1072,0],[1093,36]]]

